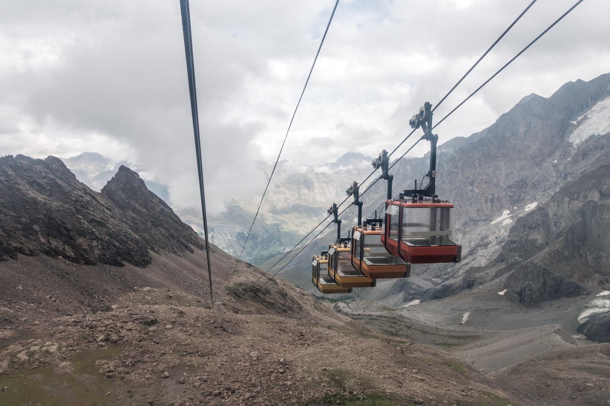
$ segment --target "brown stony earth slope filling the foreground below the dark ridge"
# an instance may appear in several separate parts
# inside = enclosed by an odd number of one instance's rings
[[[202,251],[153,256],[129,282],[156,287],[138,289],[117,287],[121,279],[106,265],[22,256],[3,262],[2,275],[20,266],[24,279],[2,290],[0,387],[7,390],[0,403],[533,404],[442,351],[379,334],[287,282],[249,289],[260,271],[240,265],[232,273],[225,265],[234,260],[218,251],[214,287],[225,303],[215,323],[209,296],[187,293],[176,280],[188,278],[178,268],[203,258]],[[87,279],[98,271],[102,277],[87,283],[100,281],[91,286],[104,292],[95,293],[106,305],[99,312],[54,276]],[[40,293],[26,282],[36,274],[47,281]]]

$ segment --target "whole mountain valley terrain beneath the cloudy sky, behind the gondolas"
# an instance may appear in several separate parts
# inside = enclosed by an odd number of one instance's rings
[[[462,262],[350,295],[311,292],[333,228],[277,278],[249,261],[277,261],[370,157],[280,170],[239,264],[256,198],[234,199],[210,236],[215,303],[196,210],[98,155],[68,162],[112,173],[98,189],[53,156],[1,157],[0,404],[610,405],[609,96],[608,74],[568,83],[441,145]],[[402,159],[395,192],[427,164]]]

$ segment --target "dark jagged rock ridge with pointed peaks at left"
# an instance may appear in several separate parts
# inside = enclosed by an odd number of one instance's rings
[[[126,167],[99,194],[59,158],[0,158],[0,260],[43,253],[78,264],[146,267],[148,250],[202,247],[195,232]]]

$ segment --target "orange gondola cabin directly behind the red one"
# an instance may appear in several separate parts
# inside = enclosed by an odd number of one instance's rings
[[[408,278],[411,264],[386,250],[381,242],[381,219],[375,220],[379,220],[379,225],[365,224],[352,229],[351,264],[372,279]]]

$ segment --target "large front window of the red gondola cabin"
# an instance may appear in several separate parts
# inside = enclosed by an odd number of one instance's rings
[[[456,245],[451,208],[403,207],[402,239],[409,245]]]

